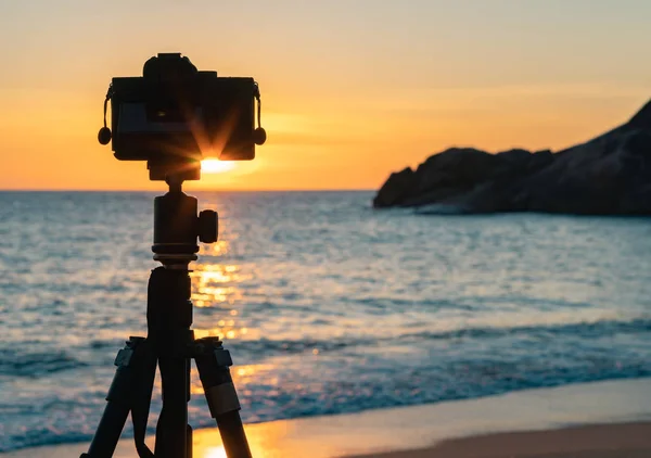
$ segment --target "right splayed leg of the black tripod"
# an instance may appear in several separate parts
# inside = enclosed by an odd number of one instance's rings
[[[217,421],[221,442],[228,458],[252,458],[248,441],[240,418],[240,402],[229,367],[233,365],[230,353],[219,339],[196,341],[194,355],[199,377],[204,389],[210,415]]]

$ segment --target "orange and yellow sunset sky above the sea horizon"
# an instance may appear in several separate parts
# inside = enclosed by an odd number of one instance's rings
[[[158,52],[253,76],[268,141],[189,189],[376,189],[452,145],[558,150],[651,98],[647,0],[2,0],[0,189],[163,189],[97,141]]]

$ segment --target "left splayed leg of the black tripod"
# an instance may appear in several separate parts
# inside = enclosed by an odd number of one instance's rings
[[[115,377],[106,395],[106,407],[88,454],[81,458],[111,458],[132,406],[133,390],[138,384],[141,353],[146,352],[143,338],[130,338],[115,358]]]

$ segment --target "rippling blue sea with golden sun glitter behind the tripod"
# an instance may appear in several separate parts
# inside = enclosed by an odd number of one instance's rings
[[[0,451],[92,437],[145,334],[156,194],[0,192]],[[651,377],[651,218],[193,194],[220,216],[194,329],[231,351],[246,422]],[[194,370],[190,417],[214,425]]]

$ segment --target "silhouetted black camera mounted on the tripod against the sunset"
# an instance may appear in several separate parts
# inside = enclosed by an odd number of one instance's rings
[[[106,126],[111,101],[111,129]],[[257,128],[255,104],[257,102]],[[260,92],[251,77],[197,71],[180,53],[159,53],[141,77],[114,77],[99,141],[120,161],[146,161],[151,180],[200,178],[205,155],[251,161],[266,140]]]

